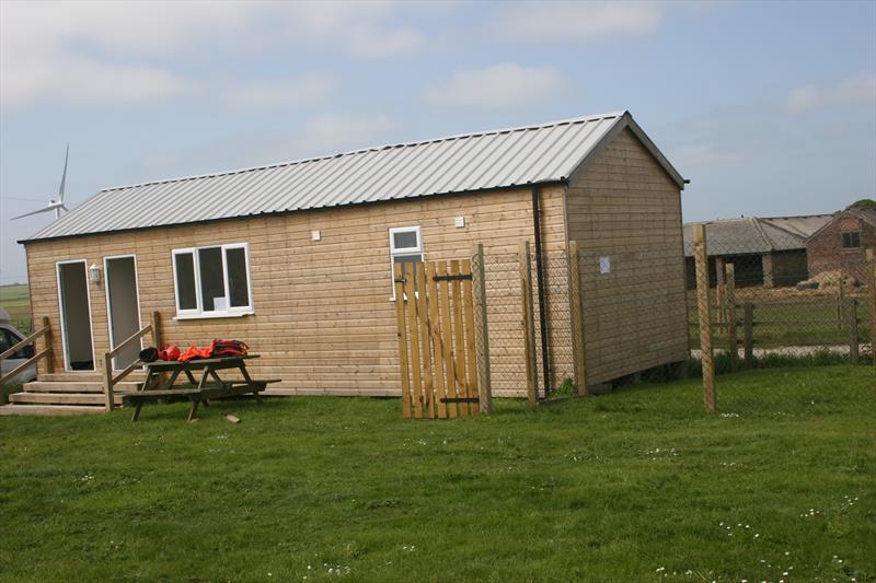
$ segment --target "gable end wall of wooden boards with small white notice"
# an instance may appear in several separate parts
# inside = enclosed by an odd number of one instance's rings
[[[597,384],[688,357],[681,196],[630,130],[566,194],[580,250],[587,378]],[[600,273],[607,256],[611,272]]]

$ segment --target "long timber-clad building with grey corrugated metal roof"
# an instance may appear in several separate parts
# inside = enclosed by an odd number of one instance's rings
[[[601,383],[688,355],[683,186],[620,112],[107,188],[21,243],[64,378],[91,378],[158,312],[168,343],[249,342],[257,374],[283,380],[268,394],[392,396],[393,264],[474,244],[488,263],[523,240],[564,256],[577,241],[587,378]],[[568,305],[545,312],[569,329]],[[515,353],[500,349],[494,374]]]

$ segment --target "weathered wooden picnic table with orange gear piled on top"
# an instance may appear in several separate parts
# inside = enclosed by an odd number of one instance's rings
[[[146,364],[143,382],[138,384],[136,392],[123,395],[122,403],[135,407],[130,420],[137,421],[140,409],[146,403],[188,399],[192,401],[192,409],[188,411],[191,421],[195,418],[198,405],[203,403],[207,406],[210,399],[255,395],[261,401],[261,393],[268,383],[278,383],[279,380],[253,381],[246,371],[246,361],[255,358],[258,358],[258,354],[194,359],[186,362],[163,360],[149,362]],[[218,371],[228,370],[240,371],[243,381],[223,381]],[[177,383],[180,375],[185,378]]]

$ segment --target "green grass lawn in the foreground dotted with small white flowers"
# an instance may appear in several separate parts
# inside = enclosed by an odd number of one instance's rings
[[[781,387],[757,415],[702,412],[692,380],[459,421],[328,397],[0,418],[0,580],[873,581],[874,381],[719,377],[725,403]]]

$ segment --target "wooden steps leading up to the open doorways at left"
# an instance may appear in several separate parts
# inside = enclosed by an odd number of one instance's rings
[[[136,390],[142,375],[130,375],[117,385],[113,395],[116,405],[125,393]],[[103,377],[100,373],[44,374],[25,383],[21,393],[9,396],[9,405],[0,407],[0,416],[68,416],[106,412]]]

